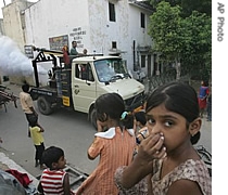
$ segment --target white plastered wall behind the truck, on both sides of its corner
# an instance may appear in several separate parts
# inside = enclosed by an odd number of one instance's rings
[[[109,20],[109,2],[115,4],[116,22]],[[69,48],[76,40],[79,52],[86,48],[88,53],[106,55],[115,41],[132,70],[132,41],[141,47],[152,43],[148,25],[140,27],[141,12],[148,23],[150,13],[128,0],[40,0],[25,10],[26,43],[50,49],[49,38],[68,35]]]

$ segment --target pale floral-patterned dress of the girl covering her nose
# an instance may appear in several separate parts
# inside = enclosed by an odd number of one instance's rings
[[[168,187],[175,181],[182,179],[197,182],[203,195],[212,194],[212,180],[203,160],[188,159],[161,179],[162,162],[162,160],[154,160],[153,164],[153,177],[151,182],[154,195],[166,195]],[[115,172],[115,182],[121,191],[119,195],[147,195],[147,180],[144,179],[129,190],[122,186],[119,181],[125,168],[126,167],[119,167]]]

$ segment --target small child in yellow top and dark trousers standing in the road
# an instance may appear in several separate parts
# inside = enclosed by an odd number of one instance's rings
[[[29,117],[29,130],[30,130],[30,136],[33,139],[36,154],[35,154],[35,167],[40,166],[40,169],[43,168],[42,166],[42,153],[45,151],[45,139],[42,136],[42,132],[45,131],[43,128],[38,125],[38,117],[36,115],[33,115]]]

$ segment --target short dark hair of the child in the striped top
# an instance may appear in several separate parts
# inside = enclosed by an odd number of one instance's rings
[[[64,156],[64,152],[60,147],[50,146],[42,153],[42,161],[48,168],[52,168],[53,162],[58,162],[59,159]]]

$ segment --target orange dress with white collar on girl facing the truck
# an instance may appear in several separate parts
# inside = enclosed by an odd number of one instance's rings
[[[96,170],[79,186],[76,195],[117,195],[118,190],[114,183],[115,170],[131,162],[135,145],[134,130],[122,131],[116,127],[106,132],[96,133],[88,154],[93,158],[100,156],[100,161]]]

